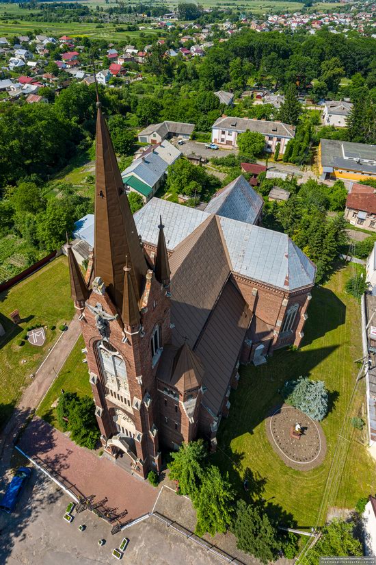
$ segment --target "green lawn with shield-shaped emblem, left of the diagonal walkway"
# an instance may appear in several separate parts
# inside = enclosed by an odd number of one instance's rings
[[[9,314],[18,308],[22,322],[14,325]],[[59,325],[69,322],[75,313],[70,299],[68,263],[59,257],[31,277],[0,294],[0,323],[5,336],[0,338],[0,427],[12,414],[21,392],[30,382],[30,375],[44,359],[61,334]],[[42,347],[29,342],[19,346],[26,328],[41,323],[47,326]],[[56,329],[51,329],[55,325]]]

